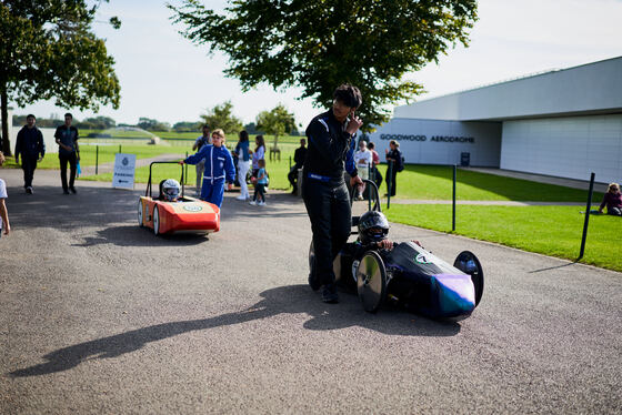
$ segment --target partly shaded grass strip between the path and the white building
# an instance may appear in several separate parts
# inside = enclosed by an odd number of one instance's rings
[[[385,176],[385,165],[379,168]],[[451,200],[451,166],[407,165],[398,173],[397,199]],[[535,183],[526,180],[504,178],[469,170],[458,169],[458,200],[490,201],[541,201],[541,202],[584,202],[588,192],[553,184]],[[381,193],[387,192],[382,183]],[[602,200],[602,193],[594,193],[594,200]]]

